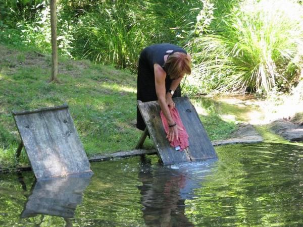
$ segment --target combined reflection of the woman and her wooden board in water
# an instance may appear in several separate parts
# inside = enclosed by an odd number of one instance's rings
[[[185,215],[185,199],[210,170],[214,162],[186,163],[152,168],[150,160],[142,158],[138,174],[143,218],[147,226],[194,226]],[[192,179],[191,179],[192,178]]]

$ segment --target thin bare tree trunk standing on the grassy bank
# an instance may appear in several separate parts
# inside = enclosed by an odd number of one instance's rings
[[[57,81],[58,53],[57,53],[57,0],[51,0],[51,33],[52,33],[52,77],[51,81]]]

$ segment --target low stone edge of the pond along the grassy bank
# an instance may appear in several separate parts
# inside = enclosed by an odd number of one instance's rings
[[[240,124],[237,131],[232,133],[232,138],[226,140],[212,141],[214,146],[237,144],[237,143],[259,143],[263,141],[262,136],[255,130],[254,126],[249,124]],[[118,158],[126,158],[138,155],[152,155],[157,154],[157,150],[145,150],[137,149],[132,151],[118,151],[111,154],[93,154],[88,157],[89,162],[95,161],[107,161]],[[16,168],[0,168],[0,174],[12,173],[12,172],[22,172],[30,171],[30,166],[22,166]]]

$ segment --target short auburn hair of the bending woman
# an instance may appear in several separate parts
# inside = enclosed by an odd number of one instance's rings
[[[184,74],[191,74],[190,58],[186,53],[175,52],[168,56],[164,69],[171,79],[177,79]]]

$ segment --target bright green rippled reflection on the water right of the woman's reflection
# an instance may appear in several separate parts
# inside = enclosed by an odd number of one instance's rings
[[[281,143],[218,147],[216,171],[185,213],[197,226],[303,226],[303,149]]]

